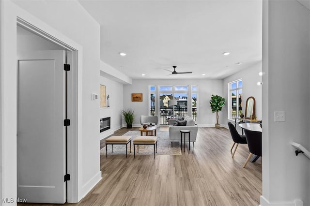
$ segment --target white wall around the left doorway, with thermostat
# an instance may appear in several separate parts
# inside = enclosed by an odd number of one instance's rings
[[[16,197],[16,18],[77,45],[82,122],[79,131],[78,199],[100,180],[99,93],[100,27],[77,1],[1,1],[1,197]],[[80,47],[81,46],[81,47]],[[3,120],[3,121],[2,121]],[[13,203],[16,205],[16,203]]]

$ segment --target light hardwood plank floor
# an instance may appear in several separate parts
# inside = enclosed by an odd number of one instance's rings
[[[114,135],[130,130],[138,128],[122,128]],[[194,152],[186,144],[182,155],[156,155],[155,160],[153,155],[101,155],[102,180],[78,204],[64,205],[257,206],[261,158],[243,168],[248,146],[240,144],[232,158],[232,145],[229,130],[202,127]]]

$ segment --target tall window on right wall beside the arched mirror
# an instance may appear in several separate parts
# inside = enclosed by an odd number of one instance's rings
[[[228,95],[228,117],[234,119],[242,113],[242,79],[228,83]]]

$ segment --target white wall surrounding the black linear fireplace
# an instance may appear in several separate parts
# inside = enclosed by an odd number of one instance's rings
[[[123,127],[123,84],[106,78],[104,74],[100,76],[100,84],[106,86],[106,94],[110,97],[110,107],[100,108],[100,118],[111,117],[111,128],[100,133],[100,139],[103,139]]]

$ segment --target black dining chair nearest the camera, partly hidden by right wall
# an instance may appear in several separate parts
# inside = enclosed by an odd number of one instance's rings
[[[246,139],[248,142],[248,150],[250,154],[248,155],[248,159],[244,163],[243,167],[246,167],[248,161],[252,157],[252,155],[257,155],[258,157],[262,157],[262,132],[244,130],[246,133]]]

